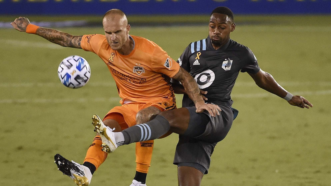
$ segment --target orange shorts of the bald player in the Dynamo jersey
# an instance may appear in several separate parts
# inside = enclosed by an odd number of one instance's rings
[[[176,109],[176,103],[172,100],[166,100],[158,103],[129,102],[123,104],[122,106],[114,107],[106,114],[103,120],[114,119],[121,126],[121,129],[124,130],[136,124],[136,115],[140,110],[150,106],[158,108],[161,112]]]

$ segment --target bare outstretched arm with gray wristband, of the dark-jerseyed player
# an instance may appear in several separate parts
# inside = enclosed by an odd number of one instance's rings
[[[280,86],[276,80],[272,77],[271,74],[268,72],[265,72],[260,69],[260,71],[256,74],[248,73],[250,76],[254,79],[255,83],[262,89],[273,93],[281,98],[288,98],[288,103],[297,106],[300,108],[307,108],[309,109],[309,106],[312,107],[313,105],[309,103],[308,100],[306,100],[302,96],[293,96],[292,94],[288,93],[282,86]],[[293,96],[291,98],[291,96]]]

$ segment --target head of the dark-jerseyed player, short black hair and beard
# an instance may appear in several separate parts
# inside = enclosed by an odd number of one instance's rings
[[[230,39],[230,33],[235,29],[233,13],[227,7],[217,7],[209,20],[209,37],[214,46],[222,46]]]

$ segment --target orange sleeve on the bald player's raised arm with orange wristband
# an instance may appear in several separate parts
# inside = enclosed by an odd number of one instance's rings
[[[99,50],[105,38],[106,37],[102,34],[83,35],[80,46],[85,51],[91,51],[99,55]]]

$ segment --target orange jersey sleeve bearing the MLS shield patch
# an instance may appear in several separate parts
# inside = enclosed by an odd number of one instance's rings
[[[159,46],[156,46],[152,54],[152,69],[155,72],[173,77],[179,71],[179,64],[171,59],[168,54]]]

